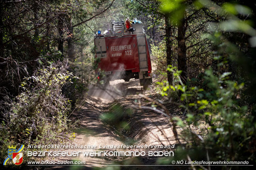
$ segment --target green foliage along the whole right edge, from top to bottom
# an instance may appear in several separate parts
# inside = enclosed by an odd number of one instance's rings
[[[211,57],[205,56],[202,60],[210,63],[200,70],[204,74],[196,75],[192,71],[194,76],[188,76],[184,84],[180,79],[181,72],[176,67],[167,68],[176,82],[162,84],[161,94],[171,94],[172,97],[176,92],[179,106],[186,114],[184,120],[173,118],[183,129],[180,137],[186,142],[187,149],[177,148],[174,159],[187,159],[189,155],[192,160],[206,160],[209,152],[209,160],[248,160],[254,164],[256,123],[255,88],[252,86],[255,86],[255,59],[248,56],[254,57],[251,54],[255,48],[248,47],[248,43],[254,46],[253,38],[249,37],[256,34],[251,27],[252,21],[245,17],[249,16],[250,9],[231,3],[219,7],[208,0],[196,1],[194,5],[199,9],[209,8],[209,15],[215,15],[218,19],[221,18],[218,16],[228,17],[223,17],[225,21],[218,24],[209,22],[209,26],[206,26],[202,39],[211,43],[212,48],[208,52]],[[244,36],[249,38],[249,42]],[[207,58],[211,59],[210,62]],[[170,159],[159,162],[170,163]]]

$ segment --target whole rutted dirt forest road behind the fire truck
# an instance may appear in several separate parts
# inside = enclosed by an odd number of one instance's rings
[[[160,113],[150,109],[151,102],[148,102],[139,94],[144,94],[153,99],[157,99],[157,94],[152,89],[143,90],[139,86],[139,80],[131,79],[129,82],[124,80],[110,81],[110,86],[103,89],[99,86],[90,86],[88,96],[82,107],[75,114],[79,117],[81,127],[75,130],[76,137],[72,144],[95,145],[95,149],[83,149],[83,151],[171,151],[171,149],[102,149],[99,146],[108,145],[173,145],[176,144],[172,126],[169,120]],[[100,116],[109,111],[114,104],[119,104],[124,110],[131,109],[132,116],[129,117],[129,130],[119,133],[114,126],[103,123]],[[145,108],[142,108],[145,106]],[[171,104],[167,107],[172,107]],[[132,143],[131,143],[132,141]],[[77,149],[79,150],[79,149]],[[61,158],[70,160],[70,157]],[[104,167],[113,163],[119,165],[155,165],[157,157],[89,157],[80,154],[79,158],[73,160],[85,161],[82,169]],[[56,167],[65,168],[69,167]],[[79,168],[79,169],[80,169]],[[140,167],[133,167],[138,168]],[[150,169],[166,169],[166,167],[149,167]],[[122,166],[122,169],[129,167]],[[147,168],[146,168],[147,169]]]

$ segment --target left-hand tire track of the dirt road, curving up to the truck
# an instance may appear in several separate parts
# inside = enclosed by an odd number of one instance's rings
[[[131,80],[125,82],[123,80],[116,80],[110,83],[110,86],[90,86],[88,95],[78,111],[73,113],[73,116],[79,119],[80,128],[74,130],[75,139],[72,144],[77,145],[95,145],[96,149],[62,149],[62,151],[102,151],[99,149],[99,145],[125,145],[121,138],[114,133],[113,129],[106,127],[100,120],[100,115],[106,112],[114,99],[122,98],[127,95],[136,94],[142,92],[142,87],[139,86],[139,82]],[[125,149],[105,149],[112,151],[125,151]],[[55,157],[55,161],[65,160],[80,160],[86,162],[87,168],[92,168],[97,165],[109,165],[113,162],[120,162],[124,160],[124,157],[84,157],[80,154],[79,157]],[[93,166],[92,166],[93,165]],[[70,167],[54,167],[68,169]],[[50,168],[51,169],[51,168]]]

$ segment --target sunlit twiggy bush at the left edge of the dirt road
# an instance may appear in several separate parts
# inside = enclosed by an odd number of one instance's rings
[[[49,144],[64,134],[70,101],[61,91],[72,77],[62,64],[52,64],[24,78],[22,92],[0,124],[3,157],[8,145]]]

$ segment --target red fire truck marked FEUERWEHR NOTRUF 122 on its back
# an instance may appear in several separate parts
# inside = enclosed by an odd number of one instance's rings
[[[106,84],[115,79],[139,79],[147,88],[152,84],[151,59],[142,23],[132,24],[133,32],[125,28],[124,21],[113,21],[112,30],[95,36],[96,58],[100,58],[97,78]],[[100,72],[99,70],[103,71]],[[103,73],[103,74],[100,74]]]

